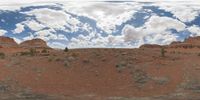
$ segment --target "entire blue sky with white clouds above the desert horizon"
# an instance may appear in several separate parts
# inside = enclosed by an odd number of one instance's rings
[[[4,0],[0,36],[53,48],[137,48],[200,36],[198,0]]]

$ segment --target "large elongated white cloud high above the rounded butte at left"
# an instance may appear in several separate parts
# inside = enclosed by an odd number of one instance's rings
[[[79,20],[73,18],[71,15],[65,13],[64,11],[43,8],[25,12],[25,14],[34,15],[36,16],[36,19],[41,22],[41,24],[33,21],[30,22],[28,26],[33,30],[38,30],[46,26],[52,29],[75,32],[78,30],[78,25],[81,26]],[[69,27],[70,30],[67,30],[65,26]]]

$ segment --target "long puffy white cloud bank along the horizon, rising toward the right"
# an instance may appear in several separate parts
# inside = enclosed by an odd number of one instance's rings
[[[108,35],[102,37],[99,33],[91,33],[87,36],[79,35],[72,38],[69,47],[139,47],[142,44],[169,44],[177,40],[177,37],[169,29],[184,31],[186,25],[169,17],[152,16],[143,26],[135,28],[125,25],[120,35]]]

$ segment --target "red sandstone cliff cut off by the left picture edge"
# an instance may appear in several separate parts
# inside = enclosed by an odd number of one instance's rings
[[[15,42],[14,39],[9,37],[0,36],[0,48],[3,47],[17,47],[18,44]]]

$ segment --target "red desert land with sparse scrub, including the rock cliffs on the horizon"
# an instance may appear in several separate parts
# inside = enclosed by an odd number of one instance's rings
[[[199,76],[200,37],[65,51],[0,37],[0,100],[200,100]]]

